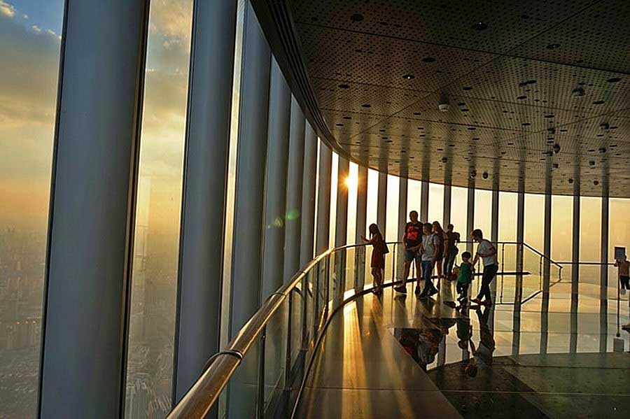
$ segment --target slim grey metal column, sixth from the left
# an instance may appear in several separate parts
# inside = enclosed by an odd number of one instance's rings
[[[300,267],[313,259],[315,241],[315,182],[317,138],[310,124],[304,127],[304,171],[302,187],[302,232],[300,234]]]

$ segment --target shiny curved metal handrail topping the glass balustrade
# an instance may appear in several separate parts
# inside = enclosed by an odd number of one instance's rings
[[[386,242],[388,245],[398,245],[400,241]],[[460,243],[471,243],[467,241],[461,241]],[[498,241],[496,244],[513,244],[524,245],[527,248],[533,250],[534,253],[545,257],[542,253],[538,252],[528,246],[526,243]],[[325,252],[314,257],[308,262],[300,271],[290,279],[288,283],[279,288],[276,292],[271,294],[265,302],[260,306],[258,311],[245,323],[239,330],[238,334],[232,338],[228,343],[227,348],[220,353],[213,355],[211,363],[207,369],[202,373],[200,378],[197,379],[195,384],[186,392],[186,395],[182,397],[179,403],[169,413],[167,418],[169,419],[181,419],[181,418],[203,418],[207,415],[210,409],[216,404],[216,401],[221,395],[221,392],[228,385],[230,378],[235,373],[239,364],[243,361],[246,353],[251,348],[253,343],[258,337],[262,335],[267,326],[267,323],[272,316],[279,310],[281,304],[288,297],[297,285],[304,280],[305,276],[318,266],[319,262],[332,255],[332,253],[339,250],[347,250],[350,248],[365,248],[367,243],[363,244],[351,244],[346,246],[339,246],[337,248],[330,248]],[[556,262],[549,260],[556,264]],[[558,264],[556,264],[560,269]]]

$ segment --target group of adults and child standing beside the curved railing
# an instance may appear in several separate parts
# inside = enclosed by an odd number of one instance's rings
[[[479,243],[475,257],[468,252],[462,253],[462,261],[458,269],[454,270],[456,256],[458,254],[457,244],[461,241],[459,233],[454,231],[454,226],[449,224],[446,231],[442,229],[440,222],[420,222],[418,212],[409,213],[409,222],[405,225],[405,233],[402,236],[402,246],[405,248],[405,265],[402,272],[402,283],[394,287],[396,292],[407,294],[407,278],[412,263],[415,262],[417,277],[424,280],[421,289],[416,283],[415,294],[418,298],[428,298],[437,294],[440,289],[440,280],[457,280],[457,291],[460,293],[458,299],[460,303],[466,304],[468,301],[468,285],[472,281],[472,273],[475,264],[482,260],[484,271],[482,284],[477,298],[472,302],[489,306],[492,304],[490,283],[496,276],[498,264],[496,259],[496,248],[487,239],[484,239],[480,229],[472,231],[472,241]],[[372,251],[372,276],[374,277],[374,294],[381,294],[383,291],[383,270],[385,268],[385,255],[388,248],[385,244],[379,227],[370,225],[370,239],[365,239],[366,243],[373,246]],[[472,258],[472,262],[470,259]],[[437,274],[437,286],[433,284],[433,271]]]

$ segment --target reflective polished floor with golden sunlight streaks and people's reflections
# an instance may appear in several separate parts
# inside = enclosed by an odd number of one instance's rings
[[[572,299],[560,282],[520,306],[464,311],[451,307],[454,283],[428,300],[413,286],[333,316],[297,418],[630,417],[630,335],[621,330],[626,352],[613,352],[617,300],[601,300],[598,285]]]

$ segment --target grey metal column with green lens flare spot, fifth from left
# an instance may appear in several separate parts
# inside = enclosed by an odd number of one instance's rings
[[[300,269],[302,230],[302,186],[304,176],[304,113],[291,98],[291,128],[286,189],[286,239],[284,245],[284,283]],[[314,172],[312,172],[314,173]],[[311,229],[313,226],[311,225]],[[312,243],[312,241],[311,241]]]

